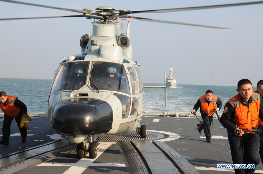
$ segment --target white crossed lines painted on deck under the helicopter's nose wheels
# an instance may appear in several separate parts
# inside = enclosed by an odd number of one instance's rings
[[[105,150],[107,150],[112,144],[116,144],[115,142],[100,142],[98,144],[99,152],[97,152],[97,157],[94,159],[90,159],[88,155],[86,158],[82,158],[77,163],[47,163],[43,162],[41,164],[38,164],[37,166],[71,166],[67,171],[65,171],[63,174],[81,174],[83,173],[86,168],[89,166],[115,166],[115,167],[126,167],[125,164],[112,164],[112,163],[93,163]],[[49,161],[49,160],[48,160]]]

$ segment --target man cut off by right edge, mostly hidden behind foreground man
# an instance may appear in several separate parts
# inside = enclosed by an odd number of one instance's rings
[[[259,80],[257,82],[257,90],[254,91],[254,93],[259,93],[259,95],[261,97],[263,97],[263,80]],[[258,129],[259,129],[259,132],[261,133],[263,130],[263,122],[262,120],[259,118],[258,120]],[[259,135],[259,155],[260,155],[260,159],[261,159],[261,163],[263,164],[263,136],[262,135]]]

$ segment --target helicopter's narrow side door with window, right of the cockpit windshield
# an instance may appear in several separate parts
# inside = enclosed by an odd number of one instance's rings
[[[133,65],[124,65],[125,68],[127,68],[128,72],[128,79],[129,79],[129,85],[131,90],[131,114],[129,118],[134,118],[137,116],[138,112],[138,103],[139,103],[139,81],[136,74],[136,70],[134,69]]]

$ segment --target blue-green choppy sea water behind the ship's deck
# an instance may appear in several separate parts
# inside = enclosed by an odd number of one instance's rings
[[[162,84],[143,84],[159,86]],[[256,85],[254,85],[256,86]],[[51,80],[0,78],[0,91],[18,97],[27,106],[27,111],[47,112]],[[167,105],[165,107],[164,89],[145,88],[143,95],[144,111],[191,112],[199,97],[205,91],[212,90],[222,100],[222,108],[226,102],[237,94],[236,86],[208,86],[177,84],[176,88],[167,88]],[[253,91],[256,90],[254,87]],[[222,111],[222,109],[221,109]],[[2,113],[0,111],[0,113]]]

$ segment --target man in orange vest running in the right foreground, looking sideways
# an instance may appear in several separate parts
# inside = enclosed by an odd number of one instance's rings
[[[250,80],[238,81],[238,94],[232,97],[225,105],[220,119],[227,129],[227,136],[231,150],[233,164],[259,164],[259,134],[244,133],[258,127],[258,118],[263,119],[262,97],[252,93],[253,86]],[[240,132],[236,135],[234,132]],[[241,137],[241,138],[240,138]],[[235,173],[254,173],[255,168],[235,168]]]

